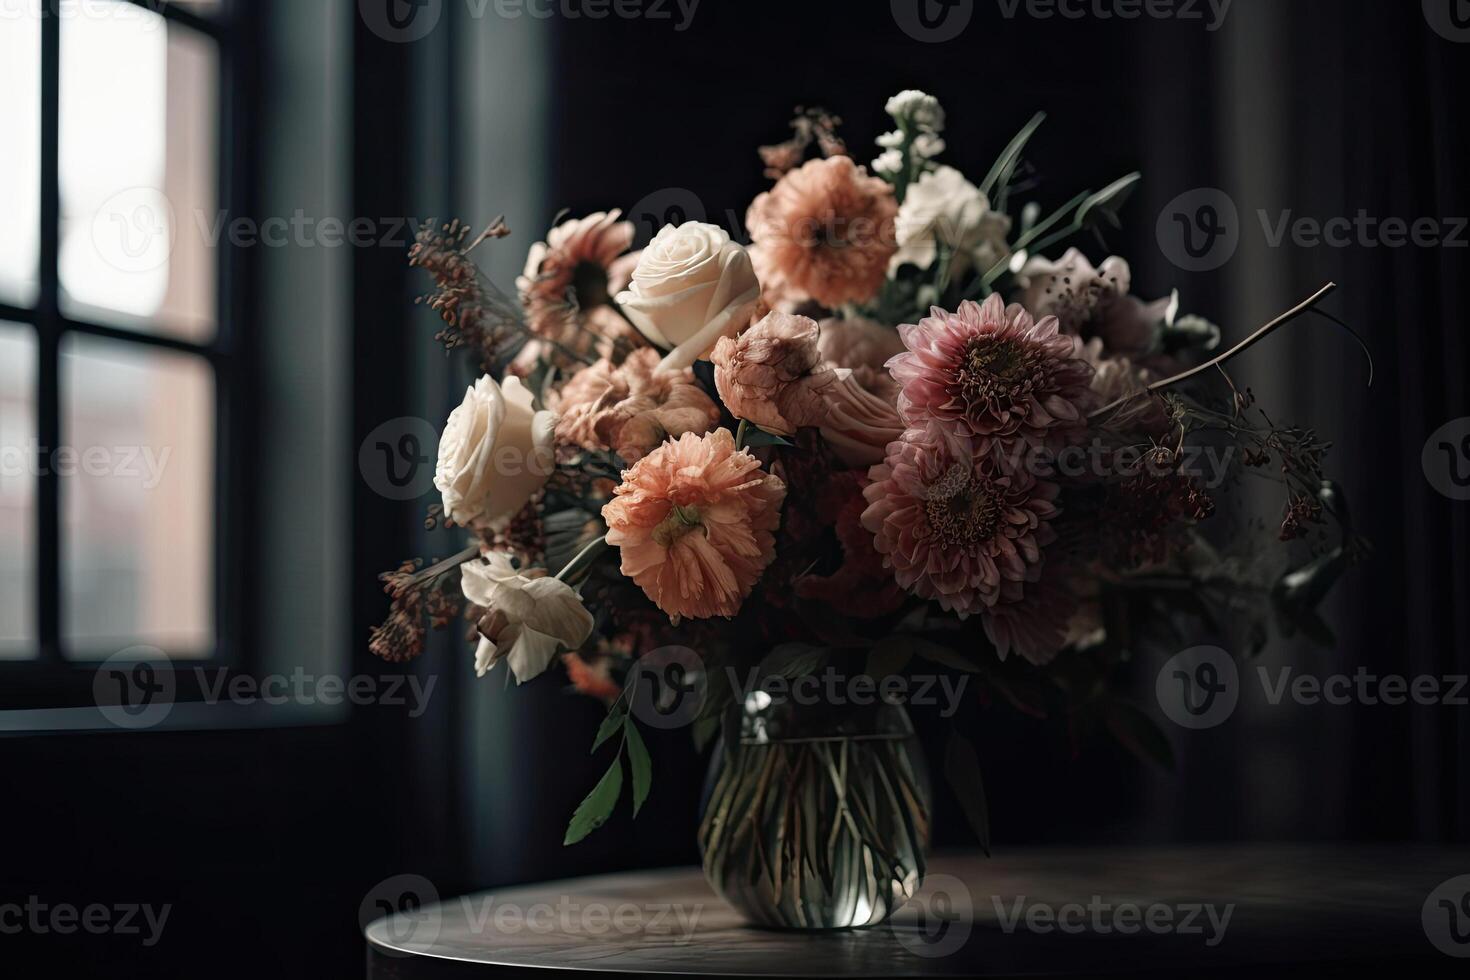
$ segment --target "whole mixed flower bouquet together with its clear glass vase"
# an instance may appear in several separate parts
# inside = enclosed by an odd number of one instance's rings
[[[373,652],[416,657],[463,619],[479,676],[560,667],[604,701],[610,765],[567,843],[625,785],[644,805],[641,727],[719,739],[706,871],[778,927],[878,923],[922,880],[906,702],[938,685],[950,708],[1064,718],[1167,763],[1117,692],[1138,651],[1223,620],[1255,649],[1272,629],[1330,638],[1314,610],[1366,550],[1327,447],[1226,370],[1330,287],[1219,351],[1177,294],[1133,295],[1123,259],[1047,257],[1101,241],[1136,173],[1014,207],[1041,116],[975,184],[938,162],[933,97],[886,110],[867,167],[838,119],[800,110],[760,150],[750,245],[685,222],[631,251],[619,212],[562,220],[514,295],[472,257],[503,222],[431,223],[412,250],[438,339],[484,372],[444,426],[428,517],[469,547],[384,576]],[[1277,486],[1279,530],[1245,513],[1247,476]],[[963,727],[942,771],[988,846]]]

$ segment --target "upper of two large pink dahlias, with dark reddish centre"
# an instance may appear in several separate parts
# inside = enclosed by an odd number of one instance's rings
[[[980,453],[998,439],[1042,448],[1078,436],[1097,404],[1092,366],[1057,326],[998,295],[964,301],[957,313],[933,307],[898,328],[908,350],[888,370],[901,385],[900,414],[908,425],[939,422]]]

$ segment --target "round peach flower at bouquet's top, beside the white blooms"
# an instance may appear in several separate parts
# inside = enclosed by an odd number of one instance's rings
[[[781,178],[745,215],[767,300],[833,309],[872,300],[898,250],[897,216],[892,187],[850,157],[808,160]]]

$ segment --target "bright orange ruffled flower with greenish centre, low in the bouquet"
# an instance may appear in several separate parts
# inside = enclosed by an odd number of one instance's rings
[[[622,572],[669,614],[732,617],[776,557],[786,485],[728,429],[686,432],[623,473],[603,507]]]

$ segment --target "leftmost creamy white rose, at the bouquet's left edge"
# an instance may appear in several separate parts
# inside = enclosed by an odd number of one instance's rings
[[[476,381],[440,438],[444,516],[465,526],[513,517],[556,469],[556,422],[532,407],[519,378]]]

